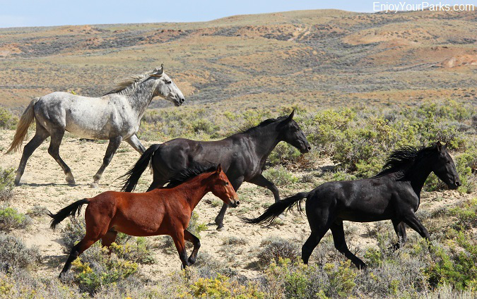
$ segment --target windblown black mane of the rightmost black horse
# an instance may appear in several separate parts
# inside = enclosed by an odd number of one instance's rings
[[[382,166],[382,170],[379,171],[377,175],[373,176],[373,178],[384,176],[396,171],[404,171],[404,176],[406,176],[406,170],[412,166],[414,162],[433,150],[435,150],[435,145],[431,145],[430,147],[401,147],[399,150],[395,150],[389,154],[386,164]]]

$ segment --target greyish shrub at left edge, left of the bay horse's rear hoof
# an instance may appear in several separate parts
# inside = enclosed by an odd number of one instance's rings
[[[0,233],[0,270],[32,268],[40,263],[40,252],[27,248],[18,238]]]

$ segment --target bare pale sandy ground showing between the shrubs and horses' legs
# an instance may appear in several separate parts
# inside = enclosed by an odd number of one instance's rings
[[[13,133],[13,130],[0,130],[0,167],[3,169],[16,169],[20,161],[20,152],[4,155]],[[64,180],[64,173],[61,168],[47,153],[47,142],[44,142],[30,157],[20,181],[21,185],[14,189],[15,196],[11,205],[20,212],[25,213],[35,205],[47,207],[50,211],[57,212],[62,207],[81,198],[93,197],[106,190],[119,190],[120,183],[114,180],[122,176],[139,159],[139,153],[129,147],[126,142],[123,142],[110,166],[107,167],[100,181],[100,188],[93,189],[90,188],[89,184],[93,181],[93,175],[102,163],[107,143],[81,141],[78,138],[66,135],[60,147],[60,154],[66,164],[70,166],[76,178],[76,185],[69,186]],[[143,143],[147,147],[157,142]],[[331,164],[331,161],[323,160],[321,164]],[[295,175],[300,176],[300,173],[295,173]],[[147,171],[139,181],[137,190],[146,190],[151,180],[151,173]],[[298,191],[302,190],[296,190],[296,192]],[[220,200],[208,194],[204,197],[204,200],[199,202],[195,210],[199,214],[199,222],[208,226],[206,231],[201,233],[201,252],[207,252],[213,258],[225,262],[230,267],[240,271],[240,274],[253,277],[259,274],[258,270],[252,267],[252,264],[257,259],[257,252],[262,240],[271,236],[278,236],[295,240],[301,246],[309,236],[310,228],[304,216],[293,214],[287,214],[285,221],[280,221],[280,225],[269,228],[243,224],[239,221],[238,214],[245,212],[247,216],[258,216],[259,213],[264,211],[264,207],[273,202],[273,196],[268,190],[249,183],[242,185],[238,194],[240,197],[246,197],[247,200],[241,198],[240,207],[228,210],[224,221],[226,231],[216,231],[216,225],[213,224],[213,219],[221,206]],[[282,197],[284,195],[290,194],[282,194]],[[437,197],[437,195],[432,194],[428,194],[428,196]],[[458,196],[458,193],[447,191],[439,193],[438,196],[441,198],[438,202],[423,199],[421,209],[432,210],[442,205],[455,205],[455,197]],[[391,227],[389,221],[385,223]],[[346,223],[348,246],[357,248],[375,245],[375,238],[368,238],[366,235],[370,226],[374,226],[374,224]],[[66,260],[59,232],[60,229],[58,228],[56,231],[49,229],[49,217],[40,216],[34,219],[33,226],[13,233],[23,238],[29,246],[36,246],[40,249],[43,262],[38,271],[45,273],[46,276],[54,277],[59,273]],[[412,236],[412,234],[413,232],[408,229],[408,235]],[[246,241],[246,244],[225,248],[223,241],[228,237],[242,238]],[[164,237],[150,238],[153,242],[158,243],[159,248],[154,249],[157,262],[151,265],[140,265],[143,273],[147,273],[153,279],[158,274],[179,269],[180,262],[177,254],[165,253],[160,248],[165,243]]]

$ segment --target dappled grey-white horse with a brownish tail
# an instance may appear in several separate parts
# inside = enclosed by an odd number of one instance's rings
[[[110,164],[114,153],[124,140],[143,154],[145,147],[137,138],[141,118],[154,97],[163,97],[180,106],[184,96],[169,76],[164,66],[142,75],[134,75],[102,97],[81,97],[69,92],[52,92],[33,99],[18,121],[15,136],[8,152],[16,152],[27,137],[28,127],[33,120],[36,132],[23,150],[20,165],[16,171],[15,184],[25,171],[28,158],[45,139],[51,136],[48,153],[57,161],[66,175],[66,182],[75,184],[73,173],[59,156],[59,145],[64,132],[68,131],[80,138],[110,140],[102,165],[93,177],[92,188],[98,183]]]

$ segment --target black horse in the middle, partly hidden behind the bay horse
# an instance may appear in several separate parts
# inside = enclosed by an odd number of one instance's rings
[[[300,152],[311,150],[310,144],[300,126],[293,120],[293,111],[289,116],[270,118],[258,126],[249,128],[218,141],[195,141],[177,138],[161,145],[151,145],[123,177],[123,191],[131,192],[143,171],[152,164],[153,183],[149,190],[162,187],[180,171],[196,164],[221,164],[235,191],[245,182],[253,183],[271,190],[275,202],[280,200],[276,185],[264,178],[266,158],[278,142],[285,141]],[[216,217],[217,229],[223,229],[223,217],[227,205]]]

